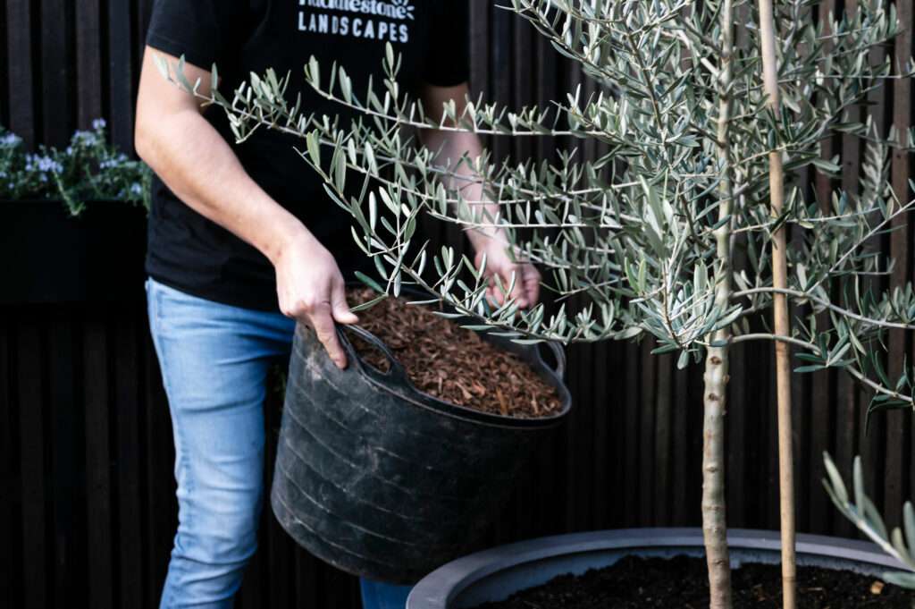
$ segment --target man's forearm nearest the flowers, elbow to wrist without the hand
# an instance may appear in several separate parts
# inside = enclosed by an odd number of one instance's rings
[[[307,229],[242,168],[229,144],[195,110],[137,123],[138,154],[196,212],[250,243],[271,261]],[[308,234],[310,236],[310,234]]]

